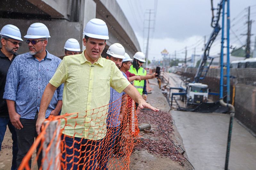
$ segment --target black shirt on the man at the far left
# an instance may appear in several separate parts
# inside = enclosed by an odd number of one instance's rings
[[[17,54],[13,55],[12,61],[16,56]],[[12,61],[2,53],[0,48],[0,117],[9,117],[6,100],[3,99],[3,95],[7,72]]]

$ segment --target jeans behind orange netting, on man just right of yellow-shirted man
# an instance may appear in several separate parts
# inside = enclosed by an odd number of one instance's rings
[[[115,145],[115,139],[119,133],[120,126],[109,128],[107,127],[107,135],[103,138],[101,142],[100,153],[98,154],[97,161],[98,167],[97,170],[108,170],[107,164],[109,157],[111,155],[111,149]]]

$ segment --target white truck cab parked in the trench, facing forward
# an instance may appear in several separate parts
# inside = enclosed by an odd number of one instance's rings
[[[187,105],[199,105],[208,100],[208,85],[202,83],[189,83],[187,89]]]

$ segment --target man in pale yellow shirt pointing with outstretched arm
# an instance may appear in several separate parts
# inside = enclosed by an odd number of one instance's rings
[[[110,87],[117,92],[126,92],[140,108],[158,111],[143,100],[114,62],[101,57],[106,40],[109,39],[106,23],[101,19],[91,19],[84,34],[83,45],[86,50],[82,54],[63,58],[45,88],[37,119],[37,133],[40,133],[45,111],[56,86],[64,83],[61,114],[78,112],[78,115],[62,122],[63,169],[96,168],[99,143],[106,135]]]

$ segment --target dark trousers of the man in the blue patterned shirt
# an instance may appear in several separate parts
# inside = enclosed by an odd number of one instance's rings
[[[22,159],[25,157],[30,147],[34,143],[35,138],[37,137],[36,131],[36,122],[37,122],[37,114],[35,119],[20,119],[23,128],[16,129],[17,139],[18,139],[18,156],[17,156],[17,165],[18,167],[21,164]],[[38,155],[38,149],[40,148],[40,144],[37,146],[37,166],[38,169],[41,166],[42,160],[42,152]],[[29,160],[29,166],[31,167],[31,159]]]

